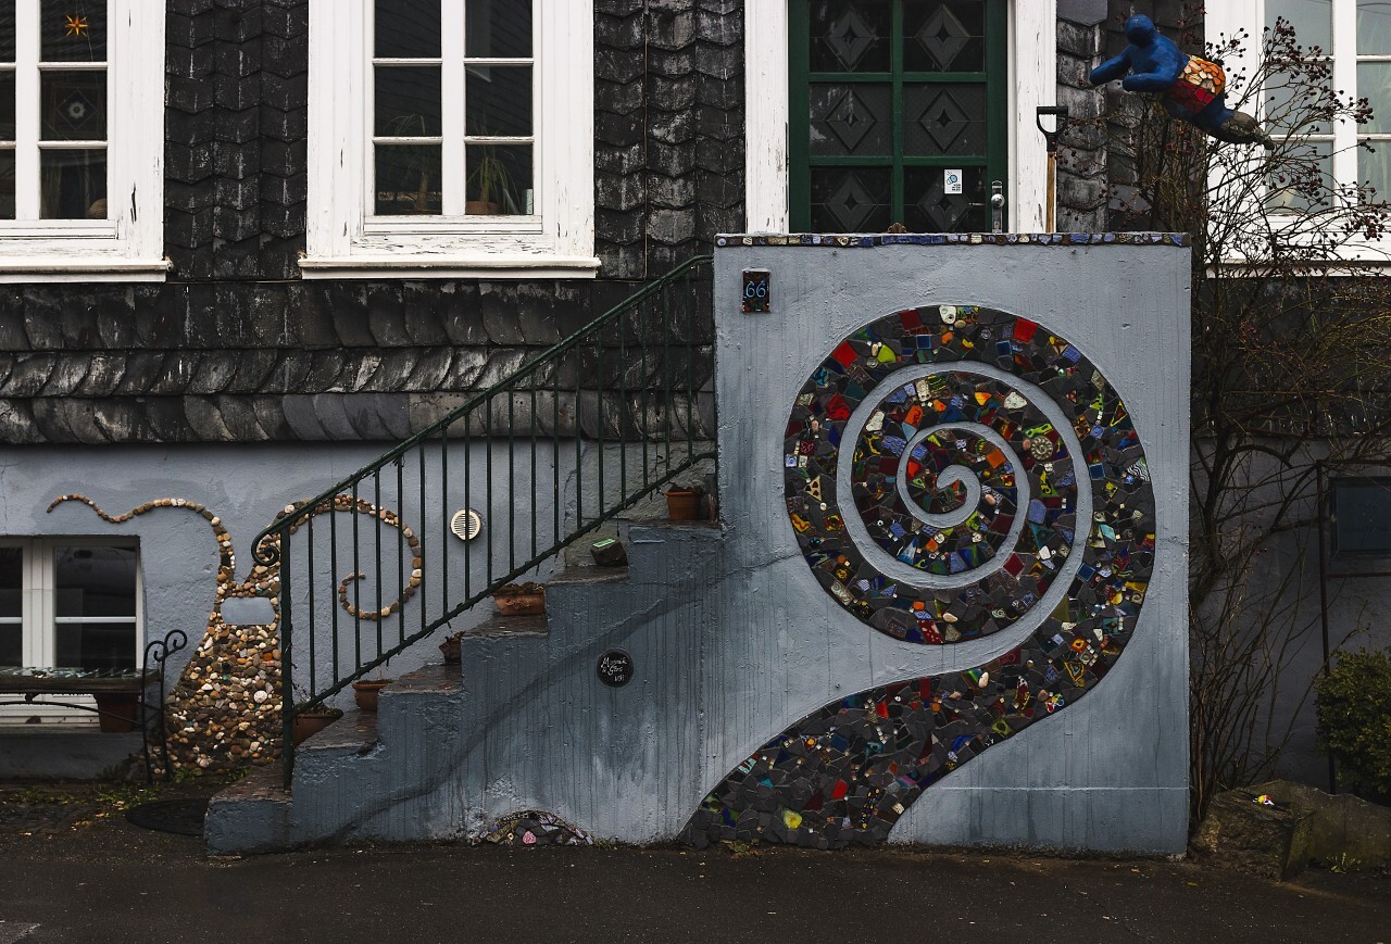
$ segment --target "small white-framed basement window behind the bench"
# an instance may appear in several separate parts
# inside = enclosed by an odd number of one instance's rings
[[[0,538],[0,667],[139,667],[139,563],[132,538]],[[7,699],[13,697],[0,694]],[[0,723],[31,717],[96,723],[89,712],[0,706]]]

